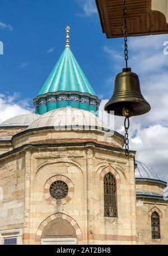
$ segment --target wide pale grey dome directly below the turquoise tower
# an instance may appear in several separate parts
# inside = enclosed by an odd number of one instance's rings
[[[27,129],[40,127],[55,127],[55,129],[86,129],[109,131],[109,127],[91,112],[78,108],[59,108],[46,112]]]

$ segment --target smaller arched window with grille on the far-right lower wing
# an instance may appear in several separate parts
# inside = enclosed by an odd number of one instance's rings
[[[153,212],[151,216],[152,239],[160,239],[160,217],[157,212]]]

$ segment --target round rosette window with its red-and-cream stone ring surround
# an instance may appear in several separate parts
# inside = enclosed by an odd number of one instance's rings
[[[66,176],[57,175],[46,181],[44,186],[45,199],[50,204],[66,204],[73,196],[73,184]]]

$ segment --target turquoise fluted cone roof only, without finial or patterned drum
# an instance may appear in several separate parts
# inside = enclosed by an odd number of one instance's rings
[[[70,48],[64,49],[39,95],[53,92],[80,92],[96,96]]]

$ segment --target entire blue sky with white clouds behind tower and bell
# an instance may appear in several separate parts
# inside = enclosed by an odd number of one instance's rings
[[[0,0],[0,122],[28,113],[66,44],[71,27],[71,50],[95,92],[100,109],[111,97],[116,74],[122,71],[123,39],[102,34],[94,0]],[[139,75],[147,115],[130,120],[130,149],[168,181],[168,35],[129,38],[129,66]],[[168,42],[167,42],[168,44]],[[165,44],[166,45],[166,44]],[[168,52],[167,52],[168,53]],[[115,130],[124,134],[123,118]]]

